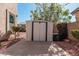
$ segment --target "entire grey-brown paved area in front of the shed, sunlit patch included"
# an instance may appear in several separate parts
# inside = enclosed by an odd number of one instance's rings
[[[26,42],[24,39],[3,52],[10,56],[68,56],[69,54],[53,42]]]

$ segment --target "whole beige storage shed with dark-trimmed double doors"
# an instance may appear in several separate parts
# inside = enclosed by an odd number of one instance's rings
[[[48,21],[27,21],[26,41],[53,41],[53,23]]]

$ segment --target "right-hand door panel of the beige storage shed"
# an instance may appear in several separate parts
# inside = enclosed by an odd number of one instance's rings
[[[45,41],[45,35],[46,35],[46,23],[39,23],[40,24],[40,41]]]

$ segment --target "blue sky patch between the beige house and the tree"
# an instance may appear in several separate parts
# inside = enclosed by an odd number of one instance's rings
[[[31,10],[35,9],[34,4],[30,3],[19,3],[18,4],[18,22],[23,23],[26,20],[31,20],[30,15],[31,15]]]

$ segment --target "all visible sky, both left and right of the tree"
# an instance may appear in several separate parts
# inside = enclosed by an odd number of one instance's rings
[[[18,23],[24,23],[27,20],[31,20],[30,19],[30,15],[31,15],[31,10],[35,9],[35,4],[33,3],[18,3],[17,6],[17,10],[18,10]],[[70,13],[75,10],[77,7],[79,7],[79,3],[70,3],[68,5],[65,6],[67,9],[69,9]],[[75,21],[75,17],[72,17],[72,21]]]

